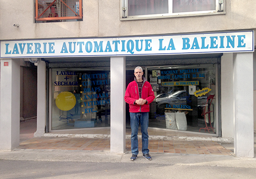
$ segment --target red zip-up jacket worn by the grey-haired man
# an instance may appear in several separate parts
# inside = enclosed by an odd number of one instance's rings
[[[151,84],[143,77],[143,85],[142,85],[142,96],[139,96],[139,86],[136,82],[136,78],[134,81],[129,83],[126,88],[124,101],[129,104],[130,112],[149,112],[150,106],[149,104],[155,99],[154,91],[152,89]],[[139,98],[147,100],[144,105],[135,104],[135,101]]]

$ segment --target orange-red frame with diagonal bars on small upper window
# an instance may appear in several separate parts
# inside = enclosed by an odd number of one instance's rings
[[[60,0],[62,3],[64,3],[62,0]],[[35,21],[53,21],[53,20],[82,20],[83,19],[83,13],[82,13],[82,0],[77,0],[79,1],[79,15],[74,12],[73,10],[73,13],[76,15],[76,16],[73,16],[73,17],[55,17],[55,18],[41,18],[41,16],[56,2],[56,0],[54,0],[49,6],[47,9],[44,10],[44,12],[39,15],[39,3],[38,3],[38,0],[35,0]],[[65,4],[65,3],[64,3]],[[66,5],[66,4],[65,4]],[[80,6],[81,5],[81,6]],[[67,6],[67,5],[66,5]],[[68,6],[67,6],[68,7]]]

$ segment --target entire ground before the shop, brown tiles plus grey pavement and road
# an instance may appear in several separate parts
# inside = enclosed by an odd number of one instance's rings
[[[21,131],[19,147],[0,151],[4,178],[255,178],[256,158],[234,157],[232,143],[150,140],[153,159],[139,152],[131,161],[129,139],[116,154],[109,139],[31,134]]]

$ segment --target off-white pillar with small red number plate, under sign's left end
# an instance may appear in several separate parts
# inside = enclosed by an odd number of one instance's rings
[[[20,61],[1,59],[1,77],[0,150],[12,150],[20,144]]]

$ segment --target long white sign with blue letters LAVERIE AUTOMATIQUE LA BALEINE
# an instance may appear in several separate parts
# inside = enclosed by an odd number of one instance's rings
[[[95,39],[1,41],[0,58],[253,52],[254,31]]]

